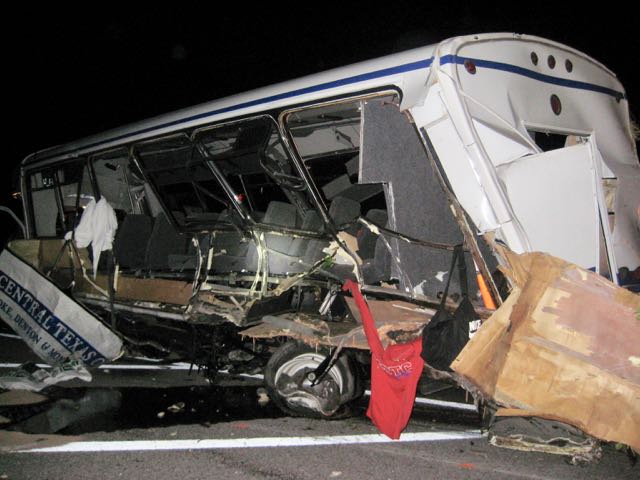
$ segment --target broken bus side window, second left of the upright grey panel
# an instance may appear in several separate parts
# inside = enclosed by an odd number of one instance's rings
[[[311,210],[306,184],[270,117],[207,128],[197,132],[195,139],[255,221],[305,228],[303,219]]]

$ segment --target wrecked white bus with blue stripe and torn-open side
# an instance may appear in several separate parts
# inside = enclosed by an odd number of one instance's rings
[[[420,336],[448,277],[455,309],[456,245],[481,320],[509,294],[504,247],[618,285],[640,265],[624,89],[526,35],[453,38],[118,128],[28,156],[21,182],[26,238],[10,249],[127,351],[211,378],[264,372],[294,414],[337,416],[363,392],[347,279],[386,344]],[[117,220],[102,255],[68,234],[100,199]]]

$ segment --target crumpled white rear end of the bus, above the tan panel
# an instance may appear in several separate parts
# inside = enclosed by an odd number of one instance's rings
[[[410,111],[479,231],[637,281],[640,165],[614,74],[547,40],[480,35],[441,44],[429,84]]]

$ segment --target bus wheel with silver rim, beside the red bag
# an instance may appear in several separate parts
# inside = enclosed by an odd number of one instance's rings
[[[315,386],[307,374],[329,353],[298,342],[287,342],[271,356],[265,368],[269,397],[294,417],[338,419],[352,415],[350,403],[362,396],[362,379],[355,360],[342,352]]]

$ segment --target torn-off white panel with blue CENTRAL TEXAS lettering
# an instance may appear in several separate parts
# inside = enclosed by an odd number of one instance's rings
[[[0,254],[0,318],[48,364],[97,367],[122,352],[116,334],[9,250]]]

